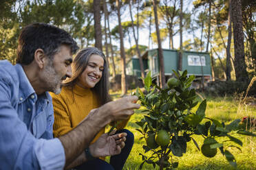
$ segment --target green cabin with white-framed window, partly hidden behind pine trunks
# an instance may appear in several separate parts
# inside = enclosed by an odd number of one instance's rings
[[[171,77],[173,71],[178,71],[179,51],[175,49],[163,49],[164,56],[164,75]],[[151,49],[146,51],[143,55],[143,63],[146,71],[151,71],[152,77],[159,77],[159,58],[158,49]],[[147,63],[147,66],[145,65]],[[133,66],[129,68],[134,69],[133,75],[140,77],[140,62],[138,58],[132,60],[130,63]],[[133,70],[131,69],[131,70]],[[204,79],[211,80],[211,58],[209,53],[183,51],[182,54],[182,71],[187,70],[188,75],[195,75],[196,77],[204,76]],[[136,74],[139,73],[139,74]]]

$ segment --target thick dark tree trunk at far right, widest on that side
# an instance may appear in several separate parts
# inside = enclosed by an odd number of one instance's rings
[[[235,77],[239,82],[248,82],[244,56],[244,32],[242,27],[242,0],[232,1],[233,39],[235,47]]]

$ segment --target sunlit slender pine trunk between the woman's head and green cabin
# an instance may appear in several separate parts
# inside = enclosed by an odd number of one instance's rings
[[[117,10],[118,10],[118,32],[120,34],[120,54],[121,54],[121,62],[122,62],[122,76],[121,76],[121,86],[122,86],[122,95],[127,93],[127,86],[126,86],[126,63],[125,63],[125,47],[124,47],[124,39],[123,39],[123,32],[122,32],[122,22],[121,22],[121,8],[122,1],[116,0]]]

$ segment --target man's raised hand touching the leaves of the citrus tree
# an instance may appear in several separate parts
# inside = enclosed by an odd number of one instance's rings
[[[140,105],[136,104],[136,101],[138,101],[137,96],[122,97],[121,99],[111,101],[98,109],[100,112],[104,112],[104,114],[109,114],[110,121],[124,120],[134,114],[133,109],[140,108]]]

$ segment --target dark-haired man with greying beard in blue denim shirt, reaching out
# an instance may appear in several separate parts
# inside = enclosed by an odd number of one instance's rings
[[[71,132],[52,136],[54,116],[47,91],[61,92],[61,81],[72,76],[70,64],[77,49],[63,29],[34,23],[19,36],[18,64],[0,61],[1,169],[63,169],[92,156],[120,153],[125,134],[103,134],[87,147],[105,125],[133,114],[132,109],[140,107],[132,104],[137,97],[111,101],[92,110]]]

